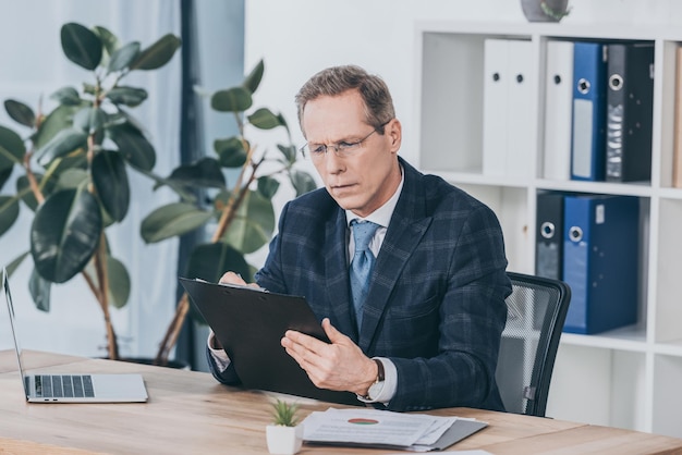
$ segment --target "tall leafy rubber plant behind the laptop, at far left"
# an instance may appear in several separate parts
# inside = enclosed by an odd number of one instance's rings
[[[68,23],[61,27],[65,57],[89,71],[92,81],[51,95],[47,114],[8,99],[4,108],[28,131],[22,137],[0,126],[0,189],[17,168],[14,194],[0,196],[0,235],[14,224],[23,205],[33,211],[29,250],[15,258],[13,272],[28,256],[34,269],[29,291],[37,308],[50,309],[52,283],[85,278],[105,319],[109,358],[119,357],[109,306],[122,307],[130,294],[125,266],[113,256],[107,230],[127,212],[127,170],[153,176],[156,152],[129,108],[142,104],[147,90],[122,85],[134,71],[166,65],[180,47],[168,34],[149,47],[122,44],[101,26]]]

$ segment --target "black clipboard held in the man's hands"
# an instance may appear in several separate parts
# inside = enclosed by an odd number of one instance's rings
[[[186,278],[180,283],[230,356],[244,388],[362,405],[354,393],[315,386],[281,346],[290,329],[329,342],[304,297]]]

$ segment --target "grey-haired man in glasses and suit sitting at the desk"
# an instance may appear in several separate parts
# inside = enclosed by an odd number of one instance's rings
[[[391,410],[502,410],[495,369],[511,285],[496,216],[398,157],[402,126],[378,76],[324,70],[296,104],[325,188],[283,208],[256,282],[304,295],[331,344],[288,331],[287,353],[318,388]],[[358,221],[378,225],[369,256],[354,249]],[[361,283],[355,256],[374,263]],[[244,284],[232,272],[221,281]],[[209,364],[218,380],[238,379],[212,335]]]

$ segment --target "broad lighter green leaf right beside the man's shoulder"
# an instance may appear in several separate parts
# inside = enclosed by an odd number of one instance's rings
[[[230,223],[223,241],[244,254],[254,253],[272,237],[275,209],[272,201],[258,192],[247,190]]]

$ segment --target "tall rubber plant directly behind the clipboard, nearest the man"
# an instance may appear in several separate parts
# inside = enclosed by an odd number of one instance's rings
[[[244,255],[256,251],[272,236],[272,197],[280,189],[280,181],[289,182],[296,196],[316,187],[314,179],[295,167],[297,149],[284,118],[268,108],[253,109],[253,95],[264,72],[260,61],[241,85],[210,94],[212,110],[233,119],[236,135],[217,138],[215,157],[182,164],[168,177],[157,179],[157,187],[171,187],[180,200],[155,209],[143,220],[141,235],[145,242],[161,242],[215,223],[210,239],[191,251],[185,276],[217,282],[232,270],[246,280],[253,279],[255,268]],[[283,130],[288,142],[278,144],[276,150],[257,150],[246,139],[248,128]],[[226,174],[236,175],[232,184],[228,184]],[[167,362],[190,311],[185,293],[159,346],[157,365]],[[192,313],[204,322],[198,313]]]

